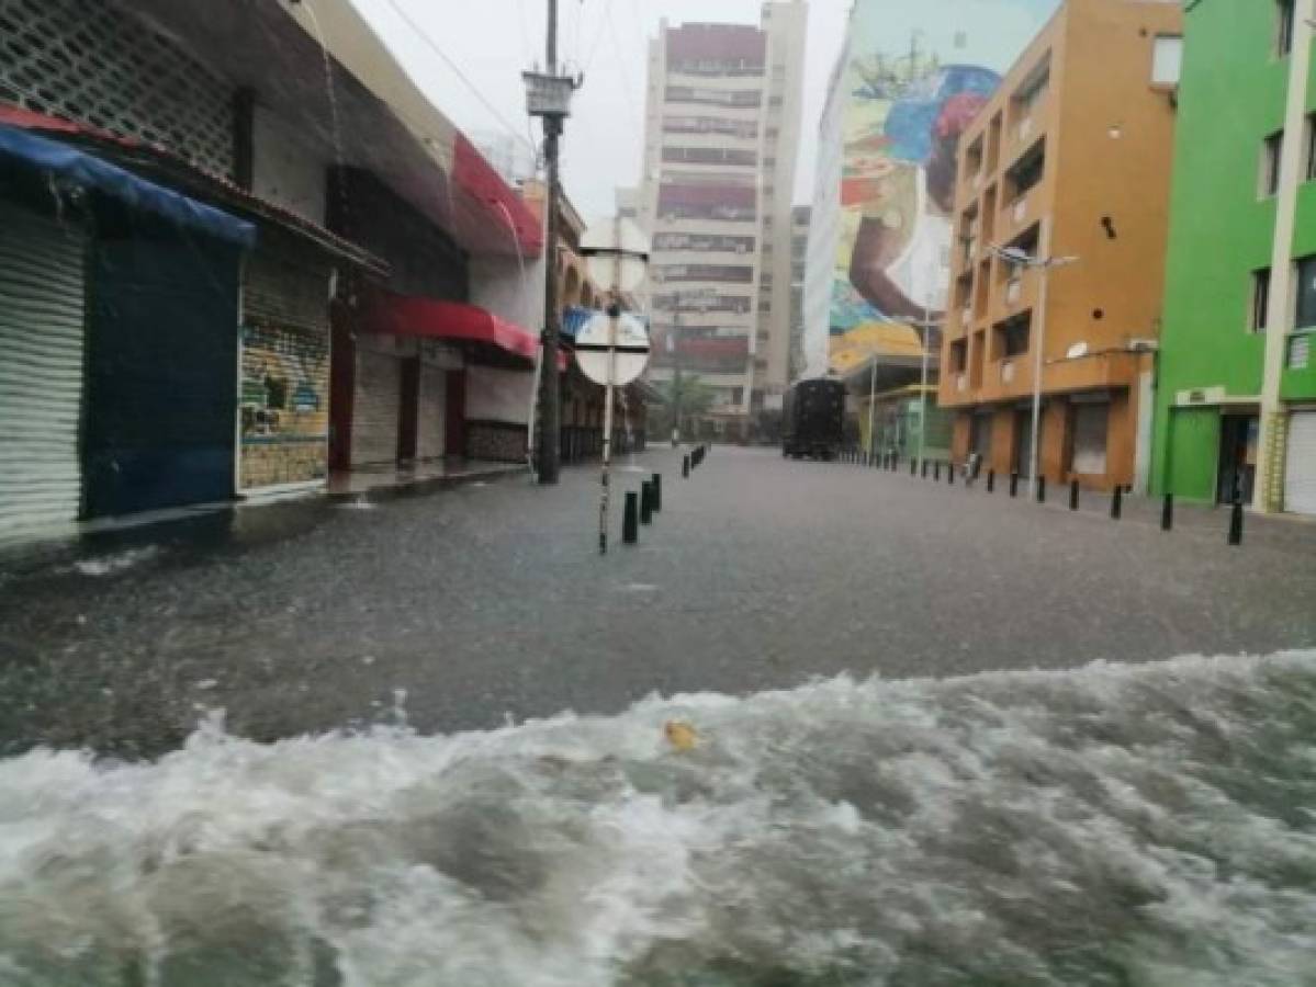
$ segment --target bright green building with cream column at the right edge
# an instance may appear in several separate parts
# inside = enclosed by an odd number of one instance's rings
[[[1154,493],[1316,514],[1316,0],[1188,0]]]

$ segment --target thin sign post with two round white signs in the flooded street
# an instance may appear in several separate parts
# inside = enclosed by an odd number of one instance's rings
[[[625,386],[649,363],[649,333],[644,323],[621,310],[621,296],[633,292],[645,277],[649,244],[644,235],[620,217],[580,237],[590,273],[611,281],[612,298],[605,313],[595,315],[576,334],[576,364],[586,377],[603,384],[603,467],[599,474],[599,555],[608,552],[608,488],[612,467],[613,388]]]

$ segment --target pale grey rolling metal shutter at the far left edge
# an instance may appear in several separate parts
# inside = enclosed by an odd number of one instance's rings
[[[78,519],[83,230],[0,204],[0,541]]]

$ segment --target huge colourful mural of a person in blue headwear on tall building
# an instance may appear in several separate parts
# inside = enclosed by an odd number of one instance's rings
[[[829,359],[933,319],[950,280],[959,135],[1058,0],[857,0],[841,114]]]

